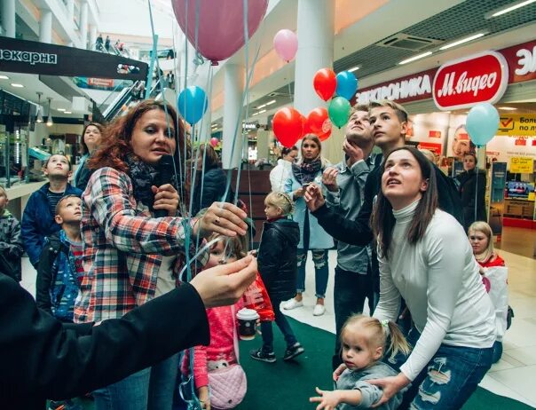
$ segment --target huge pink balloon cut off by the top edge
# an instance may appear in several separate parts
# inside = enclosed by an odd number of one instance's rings
[[[172,0],[172,4],[178,25],[190,43],[213,64],[228,59],[244,45],[243,0]],[[268,0],[248,0],[247,4],[251,37],[264,18]]]

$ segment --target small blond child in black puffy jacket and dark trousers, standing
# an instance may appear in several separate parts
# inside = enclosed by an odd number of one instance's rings
[[[288,320],[280,311],[282,301],[296,296],[297,247],[300,241],[300,228],[297,222],[288,216],[294,210],[294,203],[286,193],[269,193],[264,200],[263,236],[258,250],[257,264],[264,286],[272,301],[275,323],[280,328],[287,342],[287,351],[283,360],[290,360],[303,353],[296,335]],[[250,351],[256,360],[275,362],[273,352],[272,322],[261,322],[263,346]]]

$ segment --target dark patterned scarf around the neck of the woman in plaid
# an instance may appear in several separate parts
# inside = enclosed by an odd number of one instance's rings
[[[134,198],[146,205],[151,212],[154,211],[154,193],[151,186],[157,185],[160,177],[160,171],[153,165],[149,165],[146,162],[139,160],[135,155],[129,154],[124,160],[129,166],[129,176],[132,180],[132,186],[134,188]],[[178,169],[177,169],[178,172]],[[169,170],[169,173],[173,174],[171,177],[171,185],[177,189],[177,176],[174,170]]]

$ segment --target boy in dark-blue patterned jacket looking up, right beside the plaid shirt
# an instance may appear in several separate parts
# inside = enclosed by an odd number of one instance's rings
[[[35,282],[37,306],[67,323],[73,322],[79,278],[83,275],[81,204],[78,196],[66,195],[56,205],[54,219],[61,229],[45,240]]]

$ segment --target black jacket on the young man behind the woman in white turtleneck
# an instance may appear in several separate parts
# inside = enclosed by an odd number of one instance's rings
[[[377,161],[378,163],[380,162],[379,159]],[[436,171],[439,209],[448,212],[463,225],[461,201],[456,192],[456,185],[454,185],[453,179],[447,177],[435,165],[434,170]],[[377,167],[368,174],[364,188],[365,199],[355,221],[346,219],[333,209],[329,209],[327,205],[312,212],[312,215],[318,218],[319,224],[336,240],[342,240],[351,245],[366,246],[373,239],[370,216],[372,215],[375,197],[380,192],[380,189],[382,189],[382,167]]]

